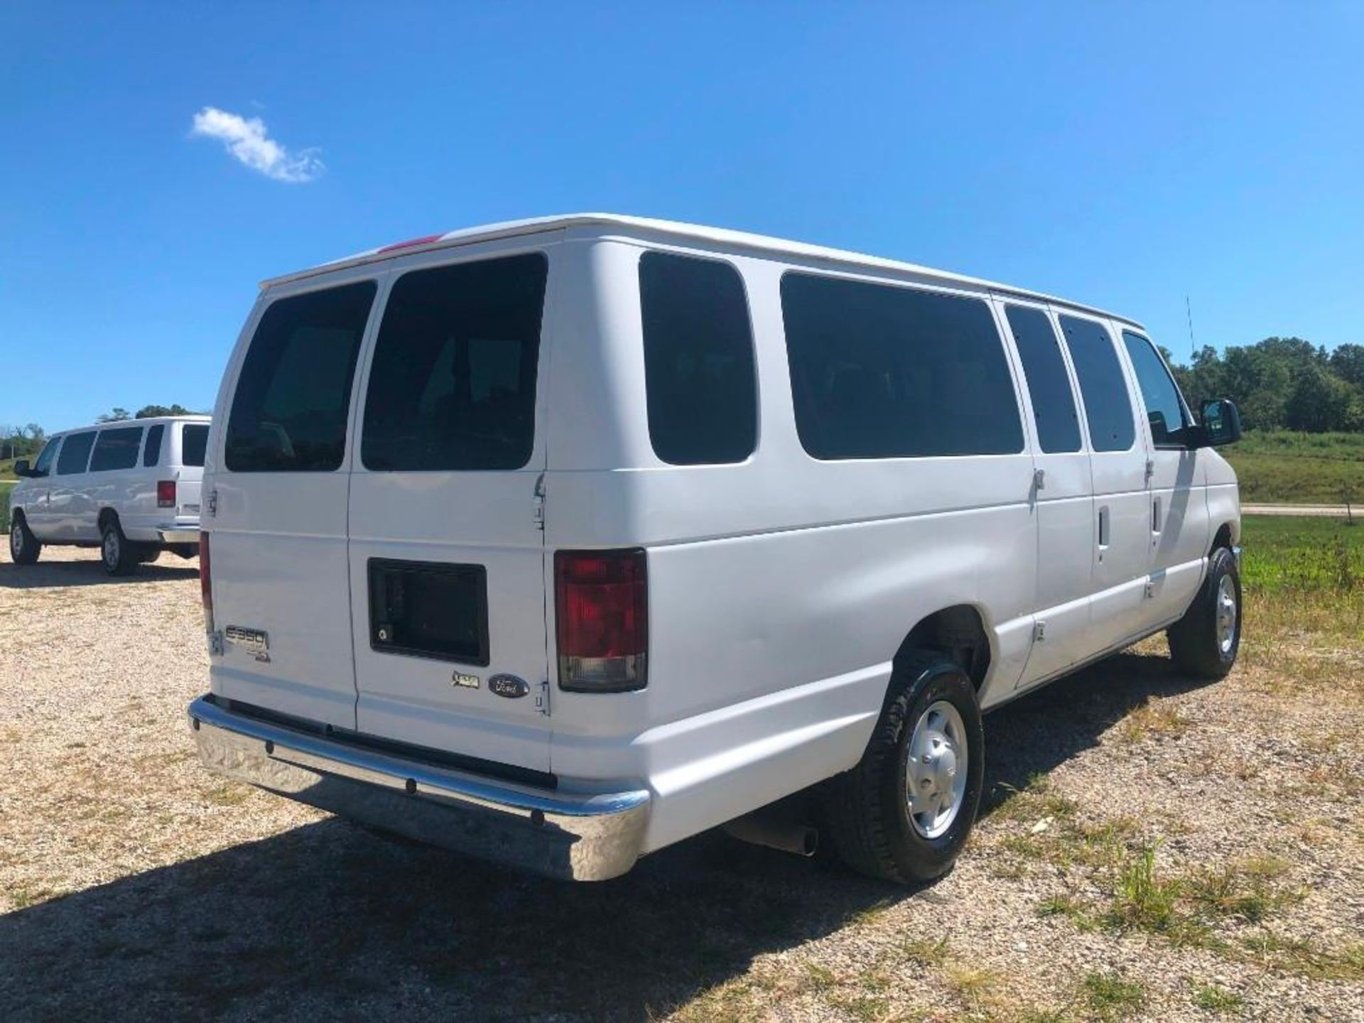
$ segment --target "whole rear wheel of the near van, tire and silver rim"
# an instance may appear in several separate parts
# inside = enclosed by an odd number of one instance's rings
[[[820,790],[833,851],[898,884],[947,873],[981,803],[983,746],[975,686],[962,667],[932,651],[898,657],[862,761]]]

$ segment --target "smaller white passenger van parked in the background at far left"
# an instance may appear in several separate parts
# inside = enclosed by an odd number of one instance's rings
[[[98,547],[110,576],[161,551],[199,552],[207,416],[121,420],[52,436],[15,462],[10,555],[33,565],[45,544]]]

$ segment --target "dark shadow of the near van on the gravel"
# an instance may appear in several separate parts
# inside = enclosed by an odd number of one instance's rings
[[[992,715],[988,806],[1194,685],[1124,655]],[[716,833],[569,885],[326,820],[0,917],[0,1004],[8,1020],[636,1020],[907,898],[944,896]]]

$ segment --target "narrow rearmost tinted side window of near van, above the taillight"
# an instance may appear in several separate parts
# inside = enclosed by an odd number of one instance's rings
[[[757,378],[738,270],[645,252],[640,307],[653,453],[672,465],[747,458],[758,435]]]

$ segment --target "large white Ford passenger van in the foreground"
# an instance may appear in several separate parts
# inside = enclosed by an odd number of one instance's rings
[[[982,711],[1236,659],[1234,406],[1018,288],[501,224],[267,281],[214,415],[205,764],[551,876],[728,824],[923,881]]]

